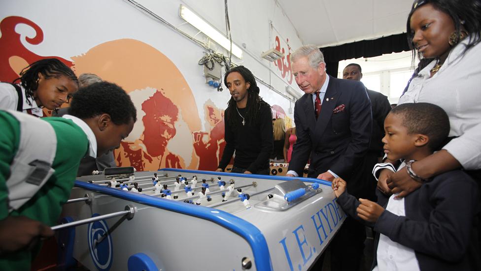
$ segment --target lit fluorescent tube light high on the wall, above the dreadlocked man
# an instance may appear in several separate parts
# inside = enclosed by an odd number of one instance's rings
[[[199,31],[207,35],[210,39],[217,42],[220,46],[224,47],[227,51],[231,49],[231,41],[224,37],[219,31],[209,25],[204,19],[188,9],[185,5],[180,5],[180,17],[186,20],[189,24],[197,28]],[[232,43],[232,54],[238,58],[242,58],[242,49],[236,44]]]

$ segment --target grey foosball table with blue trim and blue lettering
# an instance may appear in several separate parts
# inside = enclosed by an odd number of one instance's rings
[[[107,168],[78,178],[52,229],[66,267],[302,271],[344,219],[323,180]]]

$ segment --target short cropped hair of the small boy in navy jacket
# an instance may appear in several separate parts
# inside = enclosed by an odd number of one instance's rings
[[[449,117],[439,106],[430,103],[407,103],[393,108],[389,114],[401,116],[409,134],[429,137],[430,151],[440,150],[449,135]]]

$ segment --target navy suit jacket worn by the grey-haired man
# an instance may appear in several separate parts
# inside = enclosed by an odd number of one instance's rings
[[[344,105],[344,111],[333,110]],[[360,164],[368,150],[372,133],[371,101],[360,81],[329,77],[318,119],[312,94],[304,94],[294,107],[297,141],[289,170],[302,176],[310,157],[308,176],[331,170],[347,182],[352,194],[364,188]]]

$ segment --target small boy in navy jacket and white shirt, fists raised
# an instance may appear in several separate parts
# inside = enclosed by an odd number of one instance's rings
[[[422,180],[410,167],[443,146],[449,133],[446,113],[433,104],[403,104],[389,113],[384,129],[387,157],[404,159],[398,170],[407,170],[421,188],[401,199],[391,195],[382,207],[345,193],[340,178],[332,183],[344,211],[378,232],[373,270],[481,270],[475,181],[461,170]]]

